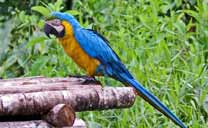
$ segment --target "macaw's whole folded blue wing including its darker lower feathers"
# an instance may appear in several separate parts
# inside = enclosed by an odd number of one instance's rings
[[[122,64],[120,58],[112,50],[109,42],[102,35],[96,31],[80,28],[75,30],[75,39],[80,44],[82,49],[92,58],[101,62],[101,73],[103,75],[111,76],[122,82],[125,75],[133,78],[126,67]]]

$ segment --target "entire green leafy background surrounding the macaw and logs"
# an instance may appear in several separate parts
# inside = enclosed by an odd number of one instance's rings
[[[84,74],[55,38],[44,35],[37,6],[67,11],[71,1],[0,0],[0,77]],[[76,0],[72,10],[82,26],[110,41],[135,78],[185,124],[208,127],[207,0]],[[176,127],[141,98],[130,109],[78,116],[90,128]]]

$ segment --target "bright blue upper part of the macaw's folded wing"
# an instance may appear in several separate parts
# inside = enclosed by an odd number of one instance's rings
[[[102,64],[120,61],[115,52],[107,44],[106,39],[97,32],[80,28],[74,32],[75,39],[82,49],[92,58],[98,59]]]

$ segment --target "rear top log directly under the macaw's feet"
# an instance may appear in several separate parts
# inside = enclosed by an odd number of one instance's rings
[[[0,95],[13,93],[29,93],[40,91],[76,90],[87,88],[99,88],[99,84],[83,85],[82,78],[44,78],[29,77],[0,80]]]

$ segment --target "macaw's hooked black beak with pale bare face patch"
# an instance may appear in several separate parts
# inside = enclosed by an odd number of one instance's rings
[[[45,34],[50,38],[50,34],[55,35],[58,38],[64,37],[65,29],[64,26],[61,24],[61,20],[53,19],[46,21],[44,26]]]

